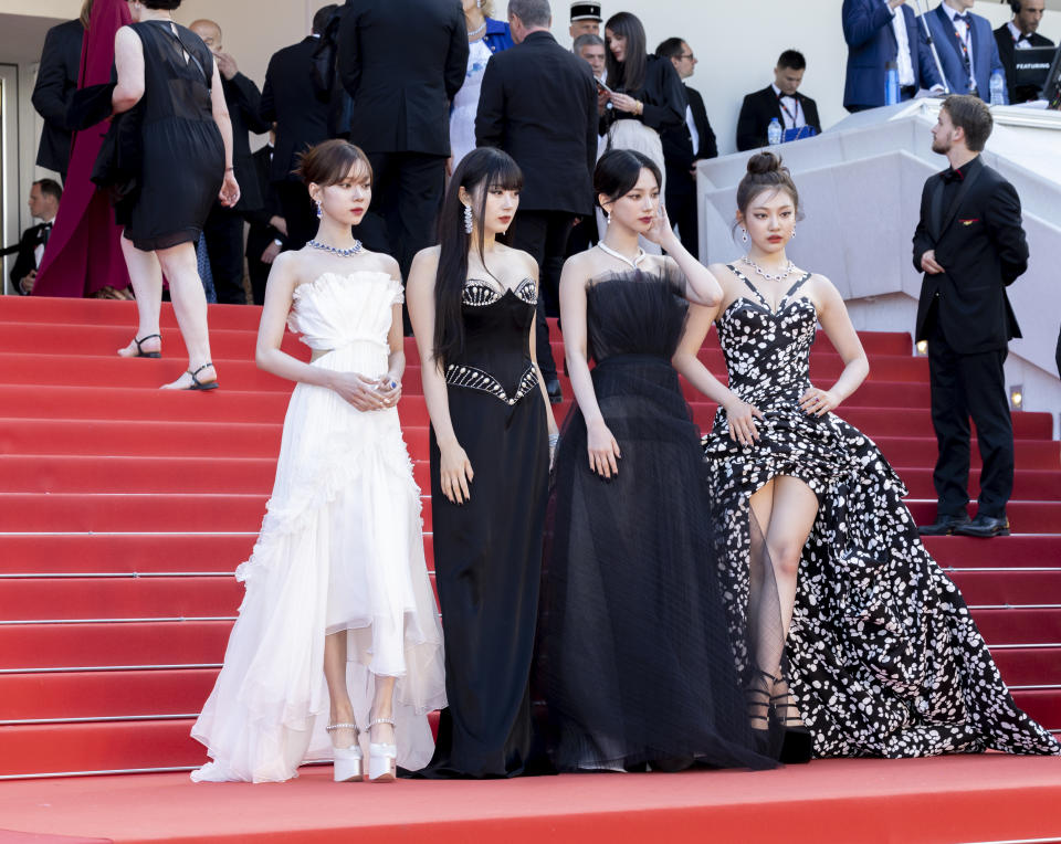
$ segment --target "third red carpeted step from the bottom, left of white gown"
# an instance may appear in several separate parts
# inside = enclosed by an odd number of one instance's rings
[[[0,624],[0,671],[218,665],[230,621]]]

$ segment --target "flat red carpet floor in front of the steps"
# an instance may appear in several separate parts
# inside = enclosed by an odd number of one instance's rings
[[[1002,756],[832,760],[748,773],[582,774],[515,782],[280,785],[187,774],[8,783],[0,843],[1057,841],[1061,760]]]

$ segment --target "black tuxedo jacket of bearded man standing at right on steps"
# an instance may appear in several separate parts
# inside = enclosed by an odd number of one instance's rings
[[[1028,242],[1017,190],[983,161],[963,168],[966,177],[950,208],[944,208],[944,173],[928,177],[914,232],[914,267],[935,250],[946,272],[925,274],[917,304],[918,340],[927,339],[935,308],[950,347],[975,355],[1006,347],[1020,327],[1006,295],[1028,268]]]

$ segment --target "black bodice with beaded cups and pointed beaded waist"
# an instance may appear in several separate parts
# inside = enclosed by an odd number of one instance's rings
[[[464,354],[445,368],[450,387],[493,395],[510,407],[533,394],[538,372],[530,360],[530,324],[538,287],[524,278],[513,288],[469,278],[461,298]]]

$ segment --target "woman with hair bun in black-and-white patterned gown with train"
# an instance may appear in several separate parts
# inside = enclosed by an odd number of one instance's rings
[[[723,299],[693,309],[674,360],[719,405],[703,444],[704,515],[723,531],[724,578],[743,581],[727,604],[735,625],[749,614],[755,623],[749,566],[768,556],[776,574],[787,660],[759,661],[763,709],[773,698],[788,727],[806,722],[819,757],[1061,753],[1013,703],[962,594],[922,545],[903,482],[831,413],[869,363],[837,288],[786,257],[799,194],[773,152],[749,159],[737,207],[748,254],[712,267]],[[819,321],[844,361],[828,390],[808,368]],[[728,387],[696,357],[712,323]],[[765,545],[749,540],[753,523]]]

